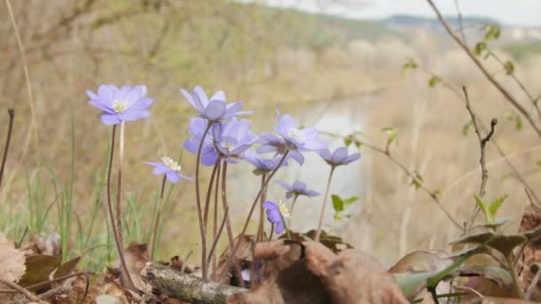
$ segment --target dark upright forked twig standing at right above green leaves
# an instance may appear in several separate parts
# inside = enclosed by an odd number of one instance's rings
[[[487,170],[487,163],[485,161],[485,147],[487,145],[487,142],[489,142],[492,135],[494,135],[494,127],[497,124],[497,119],[492,118],[490,121],[490,132],[485,136],[484,138],[481,137],[480,129],[479,129],[479,122],[477,120],[477,116],[475,115],[475,112],[472,109],[472,105],[470,104],[470,97],[468,95],[468,91],[466,90],[466,87],[462,87],[462,91],[464,92],[464,99],[466,100],[466,109],[468,110],[468,113],[470,113],[470,116],[472,117],[472,124],[473,128],[475,129],[475,133],[477,134],[477,139],[479,140],[480,144],[480,187],[479,187],[479,196],[483,197],[485,196],[485,188],[487,186],[487,181],[489,180],[489,170]],[[477,204],[475,204],[472,217],[470,218],[468,229],[472,228],[473,221],[475,221],[475,218],[477,218],[477,215],[479,214],[480,209]]]

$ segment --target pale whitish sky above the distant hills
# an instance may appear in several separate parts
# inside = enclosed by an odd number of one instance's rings
[[[444,15],[456,15],[455,0],[433,1]],[[434,16],[426,0],[266,0],[266,3],[361,19],[398,13]],[[541,0],[458,0],[458,5],[464,16],[483,16],[506,25],[541,28]]]

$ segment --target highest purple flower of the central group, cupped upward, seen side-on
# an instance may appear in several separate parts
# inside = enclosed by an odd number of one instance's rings
[[[233,102],[228,105],[223,91],[215,92],[210,100],[200,86],[196,86],[191,94],[184,89],[181,89],[181,93],[190,102],[191,107],[195,108],[201,117],[209,121],[215,122],[252,113],[250,111],[240,111],[244,102]]]

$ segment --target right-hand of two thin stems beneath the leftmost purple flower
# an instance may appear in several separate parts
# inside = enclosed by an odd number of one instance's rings
[[[122,164],[124,163],[124,133],[125,122],[120,123],[120,138],[118,139],[118,175],[117,175],[117,237],[118,237],[118,259],[122,265],[122,273],[125,274],[126,287],[134,290],[132,276],[128,271],[128,267],[125,264],[124,257],[124,240],[122,237]]]

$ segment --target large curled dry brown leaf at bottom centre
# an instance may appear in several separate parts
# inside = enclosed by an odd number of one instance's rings
[[[228,303],[408,303],[394,277],[352,249],[336,255],[316,242],[257,244],[266,260],[262,283]]]

